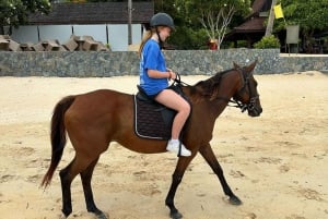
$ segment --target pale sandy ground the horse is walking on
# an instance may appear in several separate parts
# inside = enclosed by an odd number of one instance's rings
[[[184,76],[187,83],[206,76]],[[260,118],[227,108],[212,145],[226,179],[243,200],[226,203],[221,185],[197,156],[176,194],[186,219],[328,218],[328,76],[319,72],[256,75]],[[97,88],[133,94],[138,77],[0,77],[0,218],[55,219],[61,209],[58,171],[72,159],[69,144],[47,190],[39,187],[50,159],[49,120],[63,96]],[[177,158],[141,155],[113,144],[93,178],[95,202],[110,219],[166,219],[164,199]],[[80,178],[73,214],[87,214]]]

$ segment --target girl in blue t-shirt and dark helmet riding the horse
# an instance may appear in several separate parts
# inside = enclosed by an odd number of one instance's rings
[[[166,68],[161,50],[163,42],[175,29],[174,22],[168,14],[157,13],[152,16],[150,26],[151,31],[145,34],[139,48],[140,86],[157,102],[177,111],[166,149],[178,154],[180,148],[181,156],[190,156],[190,150],[179,141],[181,129],[190,113],[190,106],[174,90],[166,89],[168,80],[175,80],[176,74]]]

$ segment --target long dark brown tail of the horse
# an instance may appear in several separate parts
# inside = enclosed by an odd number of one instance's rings
[[[62,98],[55,107],[51,118],[51,162],[50,167],[45,174],[42,186],[47,187],[50,184],[54,172],[61,159],[62,151],[67,142],[66,127],[63,123],[65,112],[73,104],[75,96],[68,96]]]

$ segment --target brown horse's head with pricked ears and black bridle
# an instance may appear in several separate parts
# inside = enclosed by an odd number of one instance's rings
[[[259,117],[262,112],[259,94],[257,92],[257,82],[251,73],[256,63],[257,60],[247,66],[241,68],[234,62],[234,69],[239,72],[242,83],[233,96],[233,100],[242,111],[247,110],[250,117]]]

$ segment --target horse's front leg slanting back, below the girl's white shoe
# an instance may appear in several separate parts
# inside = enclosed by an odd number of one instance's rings
[[[167,193],[165,205],[169,208],[169,217],[173,219],[180,219],[183,215],[178,211],[178,209],[174,205],[174,196],[177,191],[178,185],[180,184],[183,177],[190,161],[192,160],[194,155],[191,157],[180,157],[178,159],[178,163],[176,169],[172,175],[172,184],[169,191]]]

